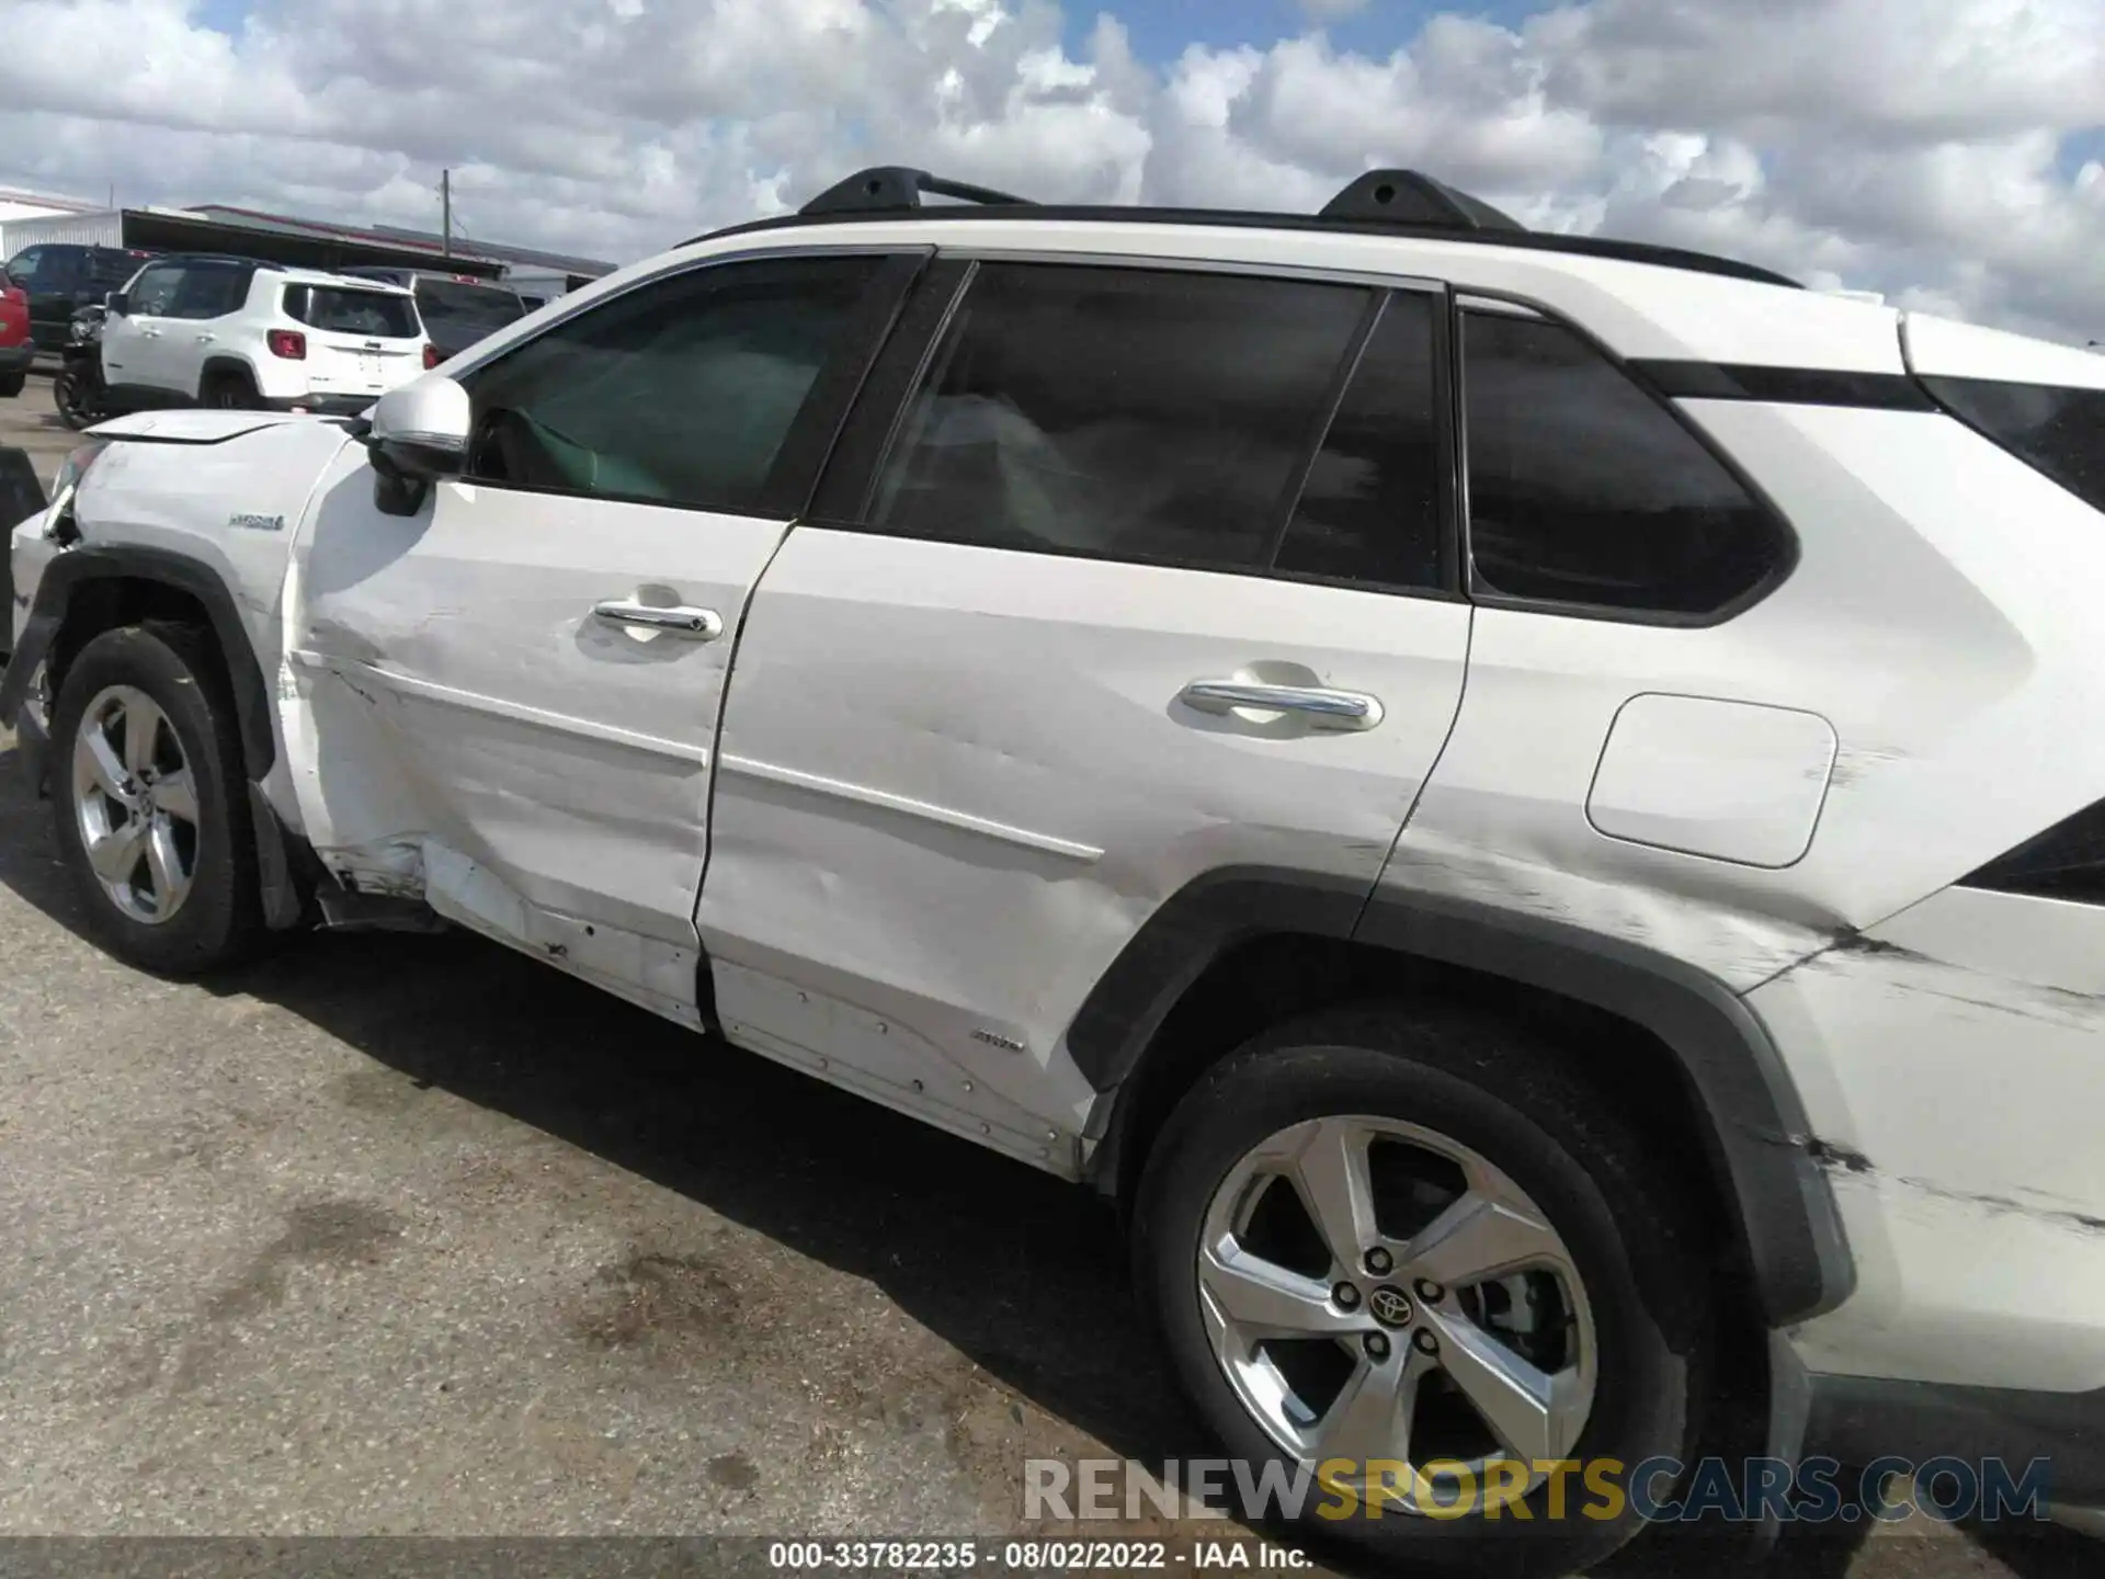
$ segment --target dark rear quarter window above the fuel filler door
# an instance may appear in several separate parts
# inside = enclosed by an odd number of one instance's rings
[[[1709,615],[1787,560],[1724,463],[1570,328],[1463,314],[1463,381],[1478,589]]]

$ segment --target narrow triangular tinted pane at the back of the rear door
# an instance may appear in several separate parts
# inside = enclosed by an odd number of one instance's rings
[[[1383,305],[1301,488],[1280,571],[1448,585],[1434,371],[1434,320],[1444,305],[1429,293],[1400,293]]]

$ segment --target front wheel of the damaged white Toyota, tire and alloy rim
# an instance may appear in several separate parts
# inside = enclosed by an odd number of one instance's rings
[[[145,752],[133,747],[133,720],[152,722]],[[86,766],[95,760],[82,739],[91,726],[101,726],[112,752],[101,775]],[[234,697],[208,640],[175,623],[97,636],[65,672],[51,737],[59,857],[97,941],[156,975],[200,975],[246,958],[263,933],[255,825]],[[187,766],[189,796],[175,792],[177,766]],[[91,802],[88,787],[109,777],[126,779],[120,790],[128,798],[99,792]],[[166,827],[158,851],[156,819]],[[112,886],[88,859],[91,830],[112,836],[133,827],[141,832],[105,855],[107,872],[128,846],[139,853]],[[156,865],[156,855],[168,859]]]

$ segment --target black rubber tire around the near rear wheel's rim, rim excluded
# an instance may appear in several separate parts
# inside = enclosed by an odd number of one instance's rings
[[[1341,1011],[1265,1032],[1183,1097],[1156,1141],[1135,1208],[1141,1303],[1177,1377],[1231,1457],[1292,1470],[1231,1390],[1208,1339],[1198,1244],[1215,1192],[1261,1141],[1309,1118],[1368,1114],[1434,1131],[1503,1171],[1547,1215],[1577,1267],[1596,1331],[1596,1396],[1570,1457],[1655,1455],[1688,1461],[1707,1387],[1709,1261],[1686,1213],[1686,1185],[1648,1162],[1640,1139],[1589,1088],[1562,1074],[1553,1048],[1465,1011]],[[1657,1150],[1657,1147],[1655,1147]],[[1398,1335],[1400,1339],[1404,1335]],[[1259,1470],[1261,1474],[1261,1470]],[[1665,1486],[1659,1488],[1667,1495]],[[1497,1520],[1368,1518],[1303,1512],[1299,1535],[1402,1573],[1564,1575],[1600,1562],[1642,1528],[1581,1516],[1600,1505],[1583,1480]]]

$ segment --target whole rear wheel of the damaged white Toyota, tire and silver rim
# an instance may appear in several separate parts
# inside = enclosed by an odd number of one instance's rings
[[[1412,1573],[1562,1575],[1638,1533],[1615,1476],[1692,1440],[1709,1312],[1684,1196],[1503,1023],[1328,1015],[1183,1099],[1135,1272],[1252,1484],[1274,1463],[1316,1486],[1307,1533]]]

